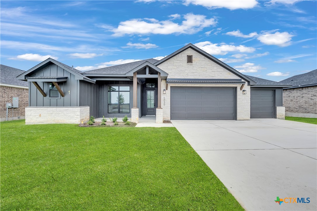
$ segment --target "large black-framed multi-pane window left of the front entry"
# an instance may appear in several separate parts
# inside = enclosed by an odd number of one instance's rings
[[[108,86],[108,113],[130,113],[130,86]]]

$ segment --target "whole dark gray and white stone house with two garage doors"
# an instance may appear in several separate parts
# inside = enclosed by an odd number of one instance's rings
[[[142,116],[163,120],[284,118],[286,84],[249,77],[188,44],[161,60],[81,72],[47,59],[17,77],[29,82],[26,124]]]

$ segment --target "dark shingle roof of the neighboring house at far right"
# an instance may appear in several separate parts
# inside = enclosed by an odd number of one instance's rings
[[[280,81],[281,83],[290,84],[293,86],[303,86],[303,85],[309,85],[309,84],[317,84],[317,69],[292,76],[290,78],[286,78],[285,80]]]

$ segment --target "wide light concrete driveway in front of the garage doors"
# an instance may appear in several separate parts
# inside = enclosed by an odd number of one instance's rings
[[[316,125],[279,119],[172,123],[246,210],[317,210]],[[279,205],[277,196],[309,197],[310,203]]]

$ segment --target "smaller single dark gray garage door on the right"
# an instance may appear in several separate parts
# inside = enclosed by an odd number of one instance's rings
[[[274,91],[251,90],[251,118],[274,118]]]

